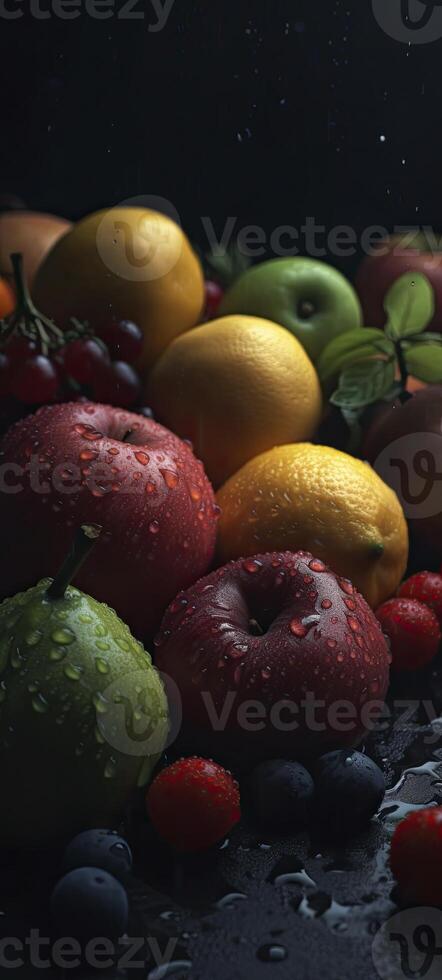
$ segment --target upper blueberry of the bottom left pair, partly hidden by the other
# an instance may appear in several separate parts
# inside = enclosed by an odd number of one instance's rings
[[[132,852],[115,830],[85,830],[68,844],[63,871],[74,868],[103,868],[117,878],[132,869]]]

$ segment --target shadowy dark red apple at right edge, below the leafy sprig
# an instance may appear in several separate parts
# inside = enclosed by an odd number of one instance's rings
[[[373,414],[362,455],[396,491],[408,520],[417,567],[442,557],[442,385]]]

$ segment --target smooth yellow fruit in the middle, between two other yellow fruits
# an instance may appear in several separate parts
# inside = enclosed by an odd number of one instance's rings
[[[149,380],[148,403],[183,438],[215,486],[273,446],[309,439],[321,416],[318,377],[283,327],[228,316],[178,337]]]

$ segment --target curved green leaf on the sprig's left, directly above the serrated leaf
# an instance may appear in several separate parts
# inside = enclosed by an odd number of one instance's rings
[[[323,385],[326,385],[344,368],[366,358],[378,357],[380,354],[387,357],[394,356],[394,346],[383,330],[376,330],[374,327],[356,327],[355,330],[348,330],[331,340],[321,352],[316,365],[319,379]]]

